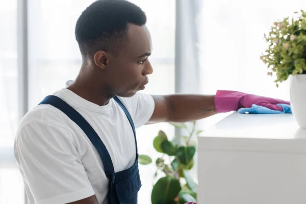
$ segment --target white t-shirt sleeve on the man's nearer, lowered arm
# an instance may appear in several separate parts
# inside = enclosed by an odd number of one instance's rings
[[[68,129],[38,121],[17,134],[15,158],[36,204],[68,203],[95,194],[73,137]]]

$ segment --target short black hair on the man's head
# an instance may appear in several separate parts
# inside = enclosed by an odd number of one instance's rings
[[[75,25],[77,40],[83,57],[97,50],[116,55],[122,39],[127,36],[127,24],[144,25],[145,13],[125,0],[98,0],[88,6]]]

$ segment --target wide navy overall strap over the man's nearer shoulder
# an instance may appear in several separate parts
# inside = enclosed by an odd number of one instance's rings
[[[64,100],[54,95],[46,96],[39,103],[39,105],[40,104],[48,104],[54,106],[55,108],[66,114],[77,125],[79,125],[79,127],[83,130],[83,132],[86,134],[91,143],[99,152],[101,160],[104,164],[106,176],[108,178],[111,178],[112,175],[115,173],[112,159],[109,155],[106,146],[101,141],[98,134],[93,130],[92,126],[86,121],[86,119],[78,111],[74,110],[71,106],[69,106]]]

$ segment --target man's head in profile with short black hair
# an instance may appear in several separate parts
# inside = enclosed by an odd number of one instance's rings
[[[79,17],[75,37],[87,77],[107,94],[133,96],[152,67],[145,13],[124,0],[98,0]]]

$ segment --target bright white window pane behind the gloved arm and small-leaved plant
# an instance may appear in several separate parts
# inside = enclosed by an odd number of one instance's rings
[[[289,83],[276,88],[259,56],[267,49],[263,39],[273,22],[292,17],[306,7],[301,0],[203,1],[203,45],[201,89],[215,94],[218,89],[237,90],[289,100]],[[202,120],[207,127],[228,114]]]

